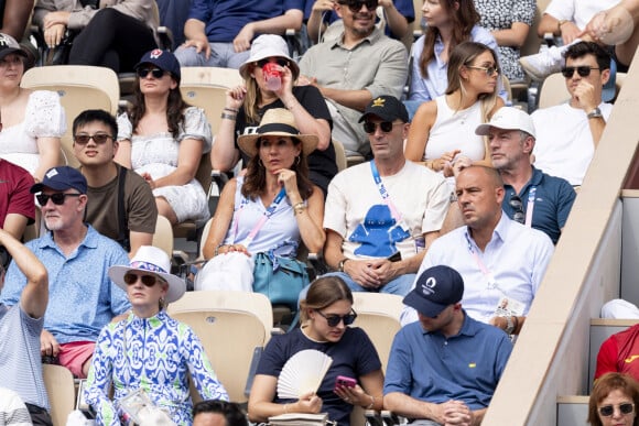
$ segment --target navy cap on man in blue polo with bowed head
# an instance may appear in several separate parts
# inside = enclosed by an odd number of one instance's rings
[[[415,287],[404,297],[404,305],[434,318],[447,306],[462,301],[464,278],[454,269],[444,265],[429,267],[418,278]]]

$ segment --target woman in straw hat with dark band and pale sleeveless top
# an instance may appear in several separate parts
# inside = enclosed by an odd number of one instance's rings
[[[256,133],[238,143],[250,157],[247,173],[224,187],[204,243],[205,259],[229,252],[292,259],[300,240],[311,252],[321,250],[324,196],[308,181],[306,165],[317,136],[300,134],[293,114],[275,108],[264,113]]]

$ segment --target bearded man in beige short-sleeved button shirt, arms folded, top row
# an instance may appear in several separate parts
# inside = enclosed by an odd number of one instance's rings
[[[399,98],[408,75],[407,50],[375,25],[378,0],[339,0],[344,22],[337,37],[311,47],[300,62],[300,85],[316,86],[333,118],[333,138],[347,156],[369,155],[370,144],[357,120],[378,96]]]

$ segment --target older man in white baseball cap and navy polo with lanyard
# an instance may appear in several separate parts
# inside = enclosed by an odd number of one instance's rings
[[[503,179],[501,208],[509,218],[545,232],[556,244],[575,200],[565,179],[550,176],[530,164],[535,128],[517,108],[499,109],[476,134],[488,136],[492,166]]]

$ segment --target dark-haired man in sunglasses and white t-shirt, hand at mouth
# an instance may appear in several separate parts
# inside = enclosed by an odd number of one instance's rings
[[[570,102],[532,113],[534,166],[578,186],[613,110],[611,103],[602,101],[602,89],[610,76],[610,55],[596,43],[575,43],[565,53],[562,73]]]

